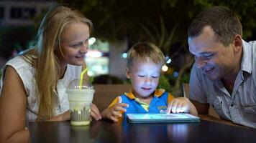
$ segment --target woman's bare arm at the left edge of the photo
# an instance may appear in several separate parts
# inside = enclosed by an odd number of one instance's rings
[[[0,142],[29,142],[26,104],[22,79],[12,66],[7,66],[0,97]]]

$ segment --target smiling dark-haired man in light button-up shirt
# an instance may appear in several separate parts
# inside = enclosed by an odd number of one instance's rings
[[[198,114],[210,105],[221,118],[256,128],[256,41],[242,40],[237,15],[221,6],[201,11],[188,28],[188,45]]]

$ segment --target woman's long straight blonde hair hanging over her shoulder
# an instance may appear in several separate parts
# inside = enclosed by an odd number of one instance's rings
[[[57,83],[60,75],[59,59],[55,49],[60,47],[61,35],[65,27],[72,22],[82,22],[89,26],[93,24],[81,12],[66,6],[55,6],[47,12],[41,22],[37,34],[37,46],[23,54],[35,67],[37,96],[40,103],[37,120],[50,119],[54,116],[54,107],[58,103]]]

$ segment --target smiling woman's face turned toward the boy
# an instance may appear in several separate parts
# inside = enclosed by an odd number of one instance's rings
[[[67,64],[81,66],[85,63],[85,54],[88,51],[88,39],[90,29],[84,23],[71,23],[65,27],[61,35],[60,48],[57,47],[55,54],[60,60],[60,66]]]

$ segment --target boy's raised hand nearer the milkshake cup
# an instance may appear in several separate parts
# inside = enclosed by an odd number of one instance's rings
[[[117,122],[119,117],[122,117],[122,113],[120,112],[126,112],[127,109],[124,107],[129,107],[129,104],[125,103],[117,103],[114,104],[114,106],[109,107],[104,110],[104,112],[101,113],[102,117],[106,117],[108,119],[111,119],[114,122]]]

